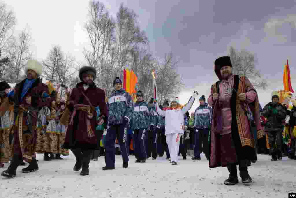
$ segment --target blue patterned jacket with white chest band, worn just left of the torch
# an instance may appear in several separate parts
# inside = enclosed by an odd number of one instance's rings
[[[130,119],[131,129],[148,129],[151,124],[149,107],[146,102],[136,102]]]

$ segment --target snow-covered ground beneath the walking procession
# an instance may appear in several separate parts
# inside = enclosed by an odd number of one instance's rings
[[[39,171],[21,173],[16,178],[0,178],[1,197],[288,197],[296,192],[296,160],[284,157],[270,162],[270,156],[258,155],[259,161],[249,167],[253,183],[225,186],[226,168],[210,169],[208,161],[180,160],[172,166],[165,158],[134,163],[122,168],[121,156],[116,156],[116,169],[103,171],[104,158],[91,161],[90,175],[73,172],[72,153],[64,160],[43,161],[38,154]],[[189,158],[189,157],[188,157]],[[180,157],[181,159],[181,157]],[[5,165],[5,168],[7,164]],[[1,169],[0,169],[1,170]],[[3,169],[4,170],[4,169]]]

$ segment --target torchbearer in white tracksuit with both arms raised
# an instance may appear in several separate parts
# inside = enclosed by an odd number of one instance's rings
[[[198,92],[194,91],[189,102],[182,108],[179,99],[174,98],[170,107],[161,110],[156,103],[155,108],[160,116],[165,116],[165,136],[170,151],[172,165],[177,165],[181,135],[184,134],[184,114],[192,107]]]

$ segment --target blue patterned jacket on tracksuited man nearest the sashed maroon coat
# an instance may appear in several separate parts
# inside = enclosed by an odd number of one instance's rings
[[[124,89],[114,90],[108,99],[109,109],[108,125],[122,124],[123,119],[130,120],[133,112],[133,100]]]

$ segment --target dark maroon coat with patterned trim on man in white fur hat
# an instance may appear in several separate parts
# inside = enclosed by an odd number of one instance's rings
[[[41,99],[43,92],[47,92],[49,94],[49,91],[48,87],[41,82],[41,79],[37,78],[23,99],[20,100],[25,81],[26,79],[15,86],[14,154],[22,156],[27,162],[31,162],[32,157],[35,157],[35,146],[37,140],[36,123],[38,111],[42,106],[51,106],[54,98],[48,98],[47,100]],[[26,103],[25,98],[27,97],[32,97],[31,105]],[[30,113],[26,113],[21,106],[24,107],[26,111],[30,110]],[[28,123],[31,124],[28,126]]]

